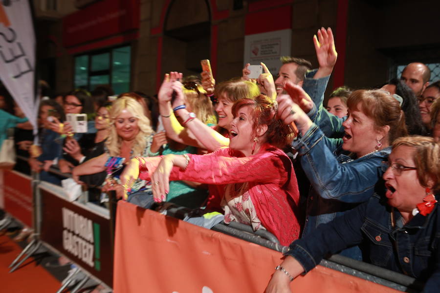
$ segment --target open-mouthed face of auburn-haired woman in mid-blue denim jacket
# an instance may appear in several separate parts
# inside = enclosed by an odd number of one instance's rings
[[[360,108],[360,105],[356,108]],[[355,153],[357,157],[374,151],[377,140],[384,136],[375,130],[374,120],[358,110],[349,109],[348,118],[342,126],[345,128],[342,148]]]

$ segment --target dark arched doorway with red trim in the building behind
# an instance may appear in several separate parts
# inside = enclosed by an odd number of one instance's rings
[[[173,0],[164,22],[162,75],[201,72],[200,60],[210,58],[211,13],[206,0]]]

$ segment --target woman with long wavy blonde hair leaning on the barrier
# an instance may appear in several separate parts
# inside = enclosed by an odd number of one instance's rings
[[[123,194],[118,172],[114,171],[119,163],[129,162],[136,156],[148,156],[153,137],[150,120],[145,116],[142,106],[129,96],[117,99],[110,110],[110,133],[105,144],[105,153],[88,160],[73,169],[75,179],[80,175],[94,174],[107,171],[107,179],[103,191],[116,190],[118,197]],[[142,192],[141,192],[142,191]],[[151,197],[149,182],[137,180],[132,186],[133,203],[141,206],[148,205]],[[147,202],[142,201],[145,198]],[[141,202],[137,202],[140,200]],[[153,199],[151,199],[151,202]]]

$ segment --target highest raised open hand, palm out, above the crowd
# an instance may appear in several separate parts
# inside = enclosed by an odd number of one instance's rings
[[[334,64],[338,57],[336,48],[334,46],[333,32],[331,28],[321,27],[318,30],[318,37],[313,36],[313,44],[315,45],[316,58],[319,63],[319,70],[315,75],[315,78],[328,76],[333,71]]]

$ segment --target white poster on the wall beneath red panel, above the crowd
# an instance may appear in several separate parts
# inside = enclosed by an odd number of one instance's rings
[[[266,64],[275,77],[281,67],[280,57],[290,56],[292,30],[282,29],[244,36],[244,64]]]

